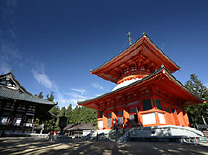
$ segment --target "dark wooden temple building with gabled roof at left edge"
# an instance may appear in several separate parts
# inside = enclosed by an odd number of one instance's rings
[[[0,75],[0,136],[31,133],[36,118],[52,118],[55,105],[27,92],[11,72]]]

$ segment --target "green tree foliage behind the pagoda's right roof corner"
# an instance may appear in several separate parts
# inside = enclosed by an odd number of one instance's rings
[[[190,80],[185,84],[185,87],[188,88],[196,96],[206,100],[206,103],[200,103],[197,105],[191,105],[186,107],[187,114],[190,119],[190,123],[197,127],[198,124],[207,124],[208,122],[208,89],[198,80],[195,74],[190,75]]]

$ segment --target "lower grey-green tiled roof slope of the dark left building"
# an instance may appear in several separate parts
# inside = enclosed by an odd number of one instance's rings
[[[27,102],[33,102],[33,103],[39,103],[39,104],[48,104],[48,105],[56,104],[54,102],[50,102],[48,100],[44,100],[39,97],[30,95],[30,94],[20,93],[18,91],[11,90],[11,89],[4,88],[4,87],[0,87],[0,98],[27,101]]]

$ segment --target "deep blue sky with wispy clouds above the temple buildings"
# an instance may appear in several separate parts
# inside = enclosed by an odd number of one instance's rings
[[[59,106],[113,89],[90,74],[145,31],[175,61],[185,83],[208,86],[208,2],[175,0],[1,0],[0,74],[13,70],[32,94],[51,91]]]

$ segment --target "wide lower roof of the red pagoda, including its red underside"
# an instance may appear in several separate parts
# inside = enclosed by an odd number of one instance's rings
[[[110,96],[125,94],[134,88],[143,88],[146,85],[153,84],[154,81],[157,81],[154,85],[156,89],[158,87],[162,90],[165,90],[166,92],[170,92],[172,95],[183,99],[185,101],[185,106],[204,102],[203,99],[190,92],[185,86],[183,86],[180,81],[176,80],[176,78],[171,75],[171,73],[166,68],[161,67],[154,73],[146,76],[141,80],[135,81],[127,86],[121,87],[115,91],[103,94],[96,98],[79,101],[78,105],[97,109],[98,107],[96,103],[98,103],[100,100],[105,100]]]

